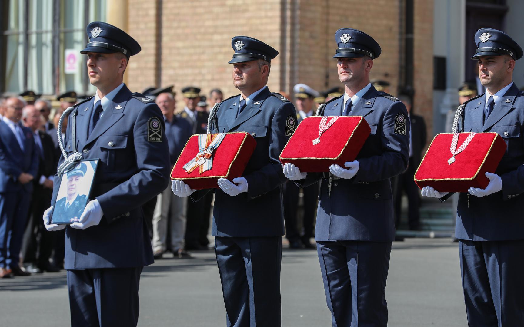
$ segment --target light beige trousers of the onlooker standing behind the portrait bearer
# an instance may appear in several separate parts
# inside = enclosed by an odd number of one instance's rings
[[[187,203],[187,198],[180,198],[173,194],[171,184],[158,195],[153,213],[154,253],[166,251],[168,221],[170,221],[171,250],[176,252],[184,248]]]

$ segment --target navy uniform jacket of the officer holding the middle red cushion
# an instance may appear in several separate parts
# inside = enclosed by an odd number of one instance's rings
[[[344,96],[326,103],[323,116],[340,116]],[[332,181],[329,173],[309,173],[301,187],[322,179],[316,213],[316,241],[393,241],[395,223],[389,178],[406,170],[409,157],[409,121],[406,106],[397,98],[370,87],[354,105],[351,116],[363,116],[371,134],[357,155],[358,173],[352,179]],[[403,116],[404,132],[397,133]]]

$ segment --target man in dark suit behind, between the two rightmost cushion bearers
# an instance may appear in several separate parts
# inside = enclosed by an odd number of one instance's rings
[[[409,130],[409,162],[405,172],[397,176],[397,190],[395,192],[395,228],[400,224],[402,192],[408,196],[408,224],[410,230],[421,230],[420,226],[420,195],[419,187],[413,181],[413,176],[422,161],[422,150],[426,144],[427,130],[424,118],[413,114],[411,98],[400,95],[400,101],[408,110],[408,120],[411,123]]]

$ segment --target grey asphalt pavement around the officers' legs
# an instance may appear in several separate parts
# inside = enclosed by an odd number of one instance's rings
[[[170,254],[145,267],[139,326],[225,326],[213,251],[192,259]],[[282,327],[329,327],[331,313],[316,251],[282,251]],[[449,239],[394,242],[386,287],[390,327],[465,327],[457,243]],[[2,325],[68,326],[65,272],[0,279]]]

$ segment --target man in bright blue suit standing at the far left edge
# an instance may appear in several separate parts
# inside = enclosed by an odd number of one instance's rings
[[[8,98],[0,121],[0,277],[29,275],[18,262],[38,152],[32,131],[21,125],[23,107],[20,99]]]

